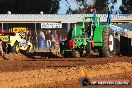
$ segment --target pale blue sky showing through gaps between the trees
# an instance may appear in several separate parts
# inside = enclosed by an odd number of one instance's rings
[[[67,0],[67,1],[69,2],[72,10],[78,9],[78,5],[76,3],[76,0]],[[92,0],[87,0],[87,1],[91,2]],[[58,11],[58,14],[65,14],[66,13],[66,11],[68,9],[68,7],[66,5],[68,6],[66,0],[60,1],[60,9]],[[114,13],[119,10],[120,5],[122,5],[122,0],[117,0],[117,3],[115,3],[115,5],[114,5],[114,10],[113,10]]]

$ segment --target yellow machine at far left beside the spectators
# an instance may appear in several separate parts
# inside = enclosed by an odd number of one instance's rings
[[[32,43],[26,40],[25,34],[25,27],[14,27],[10,32],[2,32],[0,39],[3,42],[3,51],[6,53],[30,52],[32,50]]]

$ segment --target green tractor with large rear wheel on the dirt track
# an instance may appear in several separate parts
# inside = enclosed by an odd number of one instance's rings
[[[89,21],[88,24],[86,20]],[[61,55],[82,57],[95,51],[99,56],[113,56],[114,33],[110,28],[110,20],[110,12],[106,24],[100,23],[95,11],[93,17],[84,17],[83,23],[75,24],[75,27],[68,31],[67,40],[60,43]]]

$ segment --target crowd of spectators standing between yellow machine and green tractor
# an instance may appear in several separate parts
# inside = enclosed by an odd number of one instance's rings
[[[27,33],[27,40],[30,40],[33,44],[33,49],[57,49],[57,45],[63,39],[62,35],[58,35],[56,30],[40,30]]]

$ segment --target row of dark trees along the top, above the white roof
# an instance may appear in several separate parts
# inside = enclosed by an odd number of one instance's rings
[[[6,14],[11,11],[13,14],[39,14],[43,11],[44,14],[57,14],[59,10],[59,1],[61,0],[0,0],[0,14]],[[67,3],[69,0],[65,0]],[[87,5],[87,0],[75,0],[75,3],[83,6],[83,8],[72,10],[69,6],[66,14],[72,13],[91,13],[91,8],[96,8],[97,13],[103,14],[108,12],[108,0],[93,0],[94,4]],[[112,0],[116,3],[117,0]],[[132,13],[132,0],[122,0],[123,5],[120,6],[120,13]]]

